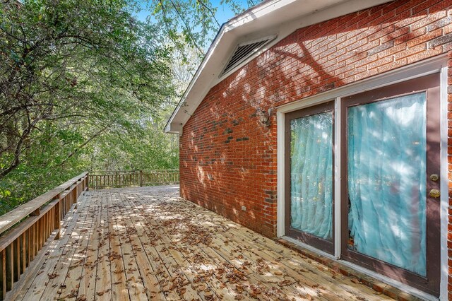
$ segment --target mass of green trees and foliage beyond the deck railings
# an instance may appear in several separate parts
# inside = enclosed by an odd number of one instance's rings
[[[148,1],[142,23],[131,15],[141,7],[0,2],[0,215],[85,170],[178,167],[178,137],[162,129],[220,28],[218,8]]]

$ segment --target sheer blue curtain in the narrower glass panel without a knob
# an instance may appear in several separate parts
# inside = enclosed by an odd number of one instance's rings
[[[331,240],[333,201],[333,114],[292,119],[290,225]]]

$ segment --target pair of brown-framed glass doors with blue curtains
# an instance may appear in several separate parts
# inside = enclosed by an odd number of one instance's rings
[[[439,73],[336,102],[285,114],[285,235],[438,295]]]

